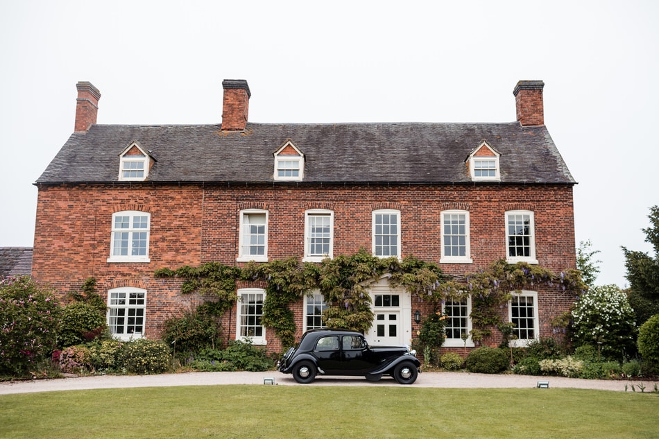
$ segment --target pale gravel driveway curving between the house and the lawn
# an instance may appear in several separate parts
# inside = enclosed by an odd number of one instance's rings
[[[274,378],[275,384],[301,386],[291,375],[280,372],[187,372],[163,375],[101,375],[62,379],[35,379],[0,383],[0,395],[10,393],[51,392],[53,390],[87,390],[95,388],[216,386],[222,384],[264,384]],[[645,391],[659,386],[656,381],[614,381],[604,379],[575,379],[562,377],[531,377],[529,375],[488,375],[467,372],[424,372],[413,387],[438,388],[535,388],[538,381],[549,381],[549,388],[587,388],[624,392],[625,384],[642,384]],[[360,377],[318,377],[307,386],[400,386],[384,377],[375,383]],[[631,388],[630,390],[631,391]]]

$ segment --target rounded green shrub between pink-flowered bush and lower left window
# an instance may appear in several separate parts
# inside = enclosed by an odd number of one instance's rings
[[[58,345],[80,345],[103,334],[106,329],[105,313],[94,304],[73,302],[62,311]]]

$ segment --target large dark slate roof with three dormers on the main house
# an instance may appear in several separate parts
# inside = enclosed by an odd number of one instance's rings
[[[502,183],[576,183],[545,126],[512,122],[93,125],[69,137],[37,184],[117,182],[132,141],[157,160],[151,182],[273,182],[273,153],[289,139],[305,154],[302,184],[474,184],[465,159],[482,140],[501,154]]]

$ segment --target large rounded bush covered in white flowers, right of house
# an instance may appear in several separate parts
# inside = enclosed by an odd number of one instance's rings
[[[584,293],[572,311],[575,345],[601,348],[601,356],[622,359],[634,350],[634,311],[615,285],[596,286]]]

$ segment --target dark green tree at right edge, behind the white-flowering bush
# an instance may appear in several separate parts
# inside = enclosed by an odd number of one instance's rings
[[[659,313],[659,206],[650,207],[651,226],[642,229],[645,241],[652,244],[654,256],[623,247],[629,303],[636,313],[637,325]]]

